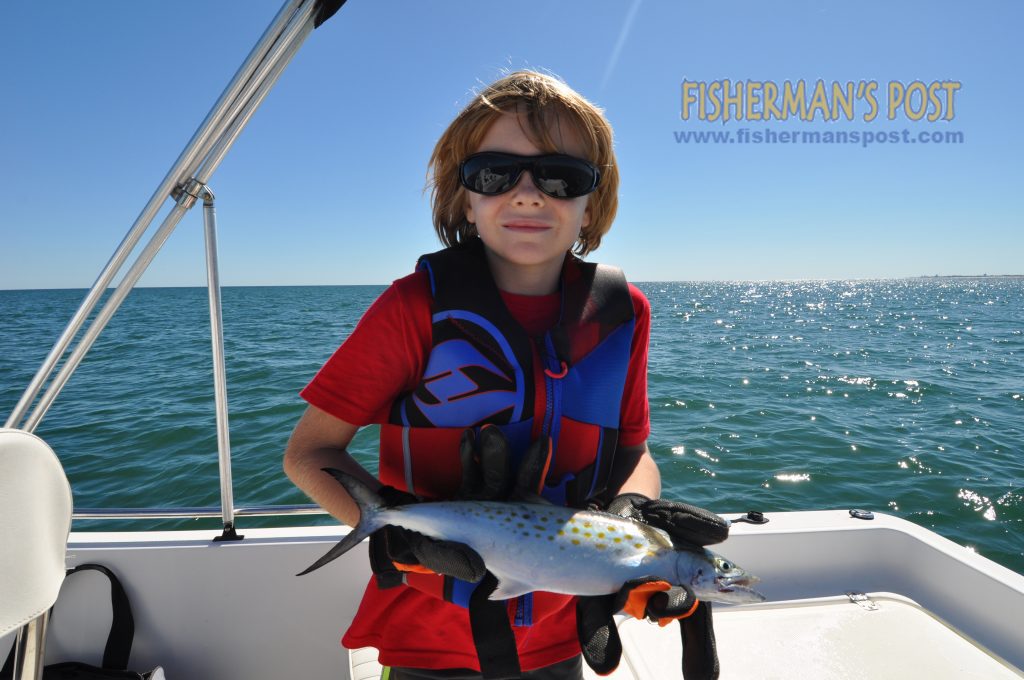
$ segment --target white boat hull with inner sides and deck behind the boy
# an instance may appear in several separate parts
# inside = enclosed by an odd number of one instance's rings
[[[762,578],[769,598],[716,608],[723,679],[1024,677],[1024,576],[896,517],[769,516],[734,524],[720,546]],[[171,680],[348,677],[339,639],[370,578],[366,544],[296,578],[344,529],[243,534],[214,543],[212,530],[73,533],[68,561],[121,576],[135,612],[136,669],[160,665]],[[879,608],[850,602],[849,591],[870,594]],[[47,663],[98,664],[108,609],[101,577],[69,581]],[[675,627],[621,628],[627,649],[612,678],[681,677]],[[373,674],[373,664],[359,672]]]

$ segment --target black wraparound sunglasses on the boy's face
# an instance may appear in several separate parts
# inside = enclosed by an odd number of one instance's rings
[[[515,186],[523,170],[529,170],[537,188],[555,199],[587,196],[601,181],[601,173],[593,163],[573,156],[517,156],[501,152],[483,152],[467,158],[459,164],[459,181],[474,194],[498,196]]]

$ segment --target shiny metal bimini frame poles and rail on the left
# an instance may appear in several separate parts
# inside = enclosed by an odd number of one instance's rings
[[[77,512],[76,518],[198,517],[219,514],[224,523],[224,534],[221,538],[238,538],[234,534],[234,515],[237,513],[231,492],[230,443],[227,434],[227,389],[221,332],[216,218],[213,193],[207,182],[305,39],[313,29],[333,16],[344,2],[345,0],[289,0],[285,3],[228,83],[220,98],[214,103],[206,119],[196,130],[184,151],[181,152],[177,161],[160,182],[142,212],[135,219],[135,223],[132,224],[106,266],[103,267],[5,424],[6,427],[29,432],[34,431],[39,426],[75,369],[81,364],[100,332],[141,278],[182,216],[197,201],[203,201],[207,249],[207,287],[210,298],[210,327],[213,345],[214,397],[217,413],[217,449],[220,459],[221,507],[219,512],[216,508],[86,509]],[[135,258],[135,261],[128,267],[120,284],[96,312],[92,322],[87,325],[86,322],[96,309],[103,292],[125,267],[129,255],[134,251],[168,200],[173,202],[170,212]],[[78,341],[74,343],[76,337],[78,337]],[[57,370],[58,364],[60,365],[59,370]],[[314,506],[260,506],[240,509],[238,514],[309,514],[313,512],[316,512]]]

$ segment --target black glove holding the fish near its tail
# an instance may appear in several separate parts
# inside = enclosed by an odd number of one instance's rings
[[[393,486],[382,486],[378,493],[387,507],[420,502]],[[370,537],[370,566],[382,589],[401,585],[402,571],[443,573],[476,583],[486,570],[483,559],[466,544],[438,541],[400,526],[385,526]]]

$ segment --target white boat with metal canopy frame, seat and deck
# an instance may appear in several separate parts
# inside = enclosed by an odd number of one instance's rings
[[[366,544],[296,578],[345,534],[340,526],[251,528],[252,516],[311,506],[237,507],[232,496],[215,198],[209,179],[313,28],[340,1],[289,0],[158,186],[0,431],[0,658],[14,678],[44,665],[99,665],[106,586],[63,582],[63,567],[109,566],[134,612],[131,667],[189,680],[380,676],[376,651],[339,644],[370,579]],[[172,202],[129,265],[155,216]],[[79,509],[79,520],[217,516],[214,530],[71,532],[67,479],[32,432],[181,217],[204,205],[214,355],[219,508]],[[104,295],[125,269],[117,288]],[[58,368],[59,367],[59,368]],[[31,480],[31,481],[30,481]],[[1022,678],[1024,575],[880,512],[724,513],[719,549],[757,572],[767,600],[715,609],[722,678]],[[45,540],[44,540],[45,539]],[[47,610],[59,592],[58,613]],[[674,627],[620,619],[624,657],[608,677],[681,677]],[[587,671],[588,678],[595,678]]]

